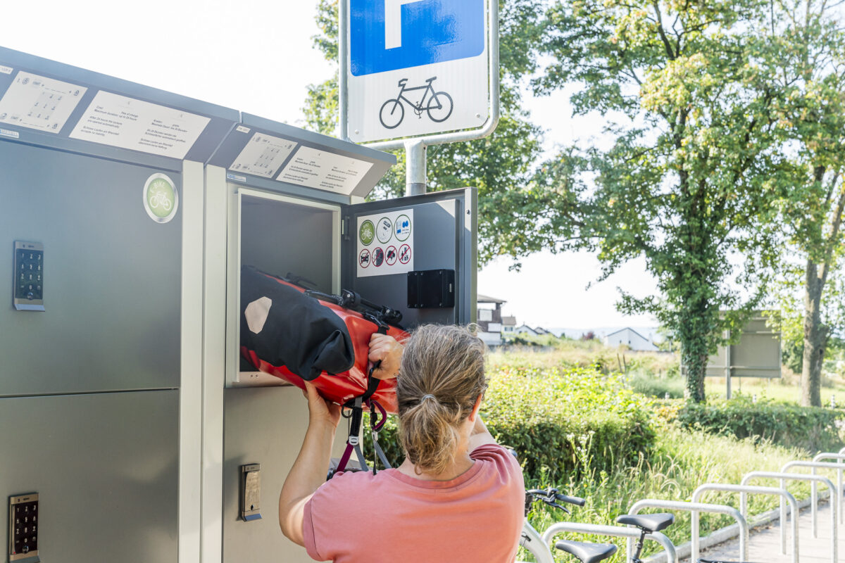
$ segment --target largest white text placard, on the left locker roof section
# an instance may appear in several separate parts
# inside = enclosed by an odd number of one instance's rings
[[[111,92],[97,92],[72,138],[183,159],[211,120]]]

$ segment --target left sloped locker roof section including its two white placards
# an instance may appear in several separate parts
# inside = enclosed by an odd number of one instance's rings
[[[208,160],[239,120],[237,110],[0,47],[0,138],[174,167]]]

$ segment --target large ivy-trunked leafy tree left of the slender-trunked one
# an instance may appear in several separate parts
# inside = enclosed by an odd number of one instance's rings
[[[537,182],[565,194],[563,246],[598,252],[602,278],[645,257],[653,295],[622,292],[619,308],[657,317],[681,344],[690,400],[725,329],[765,296],[775,262],[782,156],[779,92],[755,0],[559,0],[537,92],[580,89],[576,114],[613,119],[610,149],[566,149]],[[741,264],[738,262],[742,262]]]

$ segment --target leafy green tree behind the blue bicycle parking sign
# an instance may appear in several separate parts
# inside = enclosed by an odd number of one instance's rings
[[[502,0],[499,6],[502,81],[502,117],[488,138],[469,143],[428,148],[428,190],[478,188],[478,259],[525,256],[553,246],[556,226],[554,189],[532,185],[534,166],[540,158],[542,130],[522,109],[521,85],[537,69],[537,46],[543,0]],[[337,2],[320,0],[317,21],[321,34],[314,45],[327,60],[337,61]],[[309,88],[305,107],[308,127],[335,133],[337,80]],[[405,192],[404,154],[370,198],[400,196]]]

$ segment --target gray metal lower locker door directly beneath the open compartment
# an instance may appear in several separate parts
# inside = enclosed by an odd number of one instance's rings
[[[279,494],[308,428],[308,402],[298,387],[226,389],[223,465],[223,561],[305,563],[305,549],[279,528]],[[334,455],[343,449],[343,432]],[[260,520],[239,519],[240,466],[261,464]]]

